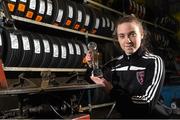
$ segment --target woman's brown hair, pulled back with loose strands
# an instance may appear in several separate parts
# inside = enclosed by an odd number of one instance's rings
[[[120,17],[116,21],[116,29],[115,29],[115,33],[114,33],[115,39],[117,39],[117,27],[118,27],[118,25],[122,24],[122,23],[125,23],[125,22],[135,22],[135,23],[137,23],[137,25],[139,26],[141,32],[143,32],[143,34],[144,34],[143,40],[141,42],[141,48],[148,51],[149,41],[147,40],[147,32],[146,32],[145,27],[143,26],[141,20],[138,19],[137,17],[135,17],[134,15],[126,15],[124,17]]]

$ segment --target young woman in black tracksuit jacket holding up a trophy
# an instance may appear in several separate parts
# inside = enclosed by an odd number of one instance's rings
[[[123,118],[149,118],[164,81],[163,61],[146,50],[144,29],[136,17],[119,19],[116,36],[123,54],[105,66],[103,77],[90,78],[104,86]],[[86,60],[91,61],[91,55]]]

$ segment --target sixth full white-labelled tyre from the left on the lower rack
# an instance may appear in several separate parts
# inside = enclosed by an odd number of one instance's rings
[[[58,67],[67,67],[67,62],[69,61],[69,48],[66,39],[57,38],[61,48],[61,60],[59,61]]]

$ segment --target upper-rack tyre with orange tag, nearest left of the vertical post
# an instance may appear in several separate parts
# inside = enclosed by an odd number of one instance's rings
[[[75,30],[81,30],[85,23],[85,9],[83,5],[76,3],[77,6],[77,15],[76,15],[76,23],[73,26]]]

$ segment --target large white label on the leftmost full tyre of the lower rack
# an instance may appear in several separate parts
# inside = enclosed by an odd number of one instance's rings
[[[12,49],[18,49],[19,43],[18,43],[17,35],[10,33],[10,39],[11,39],[11,48]]]

